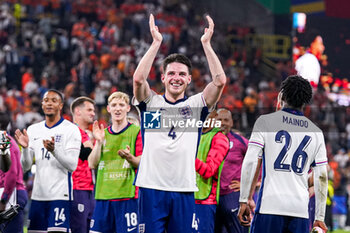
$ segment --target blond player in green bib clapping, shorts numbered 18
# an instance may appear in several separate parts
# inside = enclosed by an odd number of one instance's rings
[[[140,127],[127,121],[129,96],[114,92],[107,111],[112,125],[93,124],[96,139],[89,166],[98,169],[91,232],[137,232],[138,188],[133,185],[142,154]]]

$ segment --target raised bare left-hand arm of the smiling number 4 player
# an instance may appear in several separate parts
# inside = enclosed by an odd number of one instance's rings
[[[162,34],[160,34],[158,27],[155,25],[154,16],[152,14],[149,17],[149,28],[152,34],[153,42],[146,54],[142,57],[133,76],[134,96],[139,102],[145,100],[151,94],[147,77],[163,40]]]

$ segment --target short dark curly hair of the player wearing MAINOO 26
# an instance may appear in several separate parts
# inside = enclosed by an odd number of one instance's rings
[[[282,100],[295,108],[301,108],[310,103],[312,99],[312,87],[306,79],[300,75],[288,76],[281,84]]]

